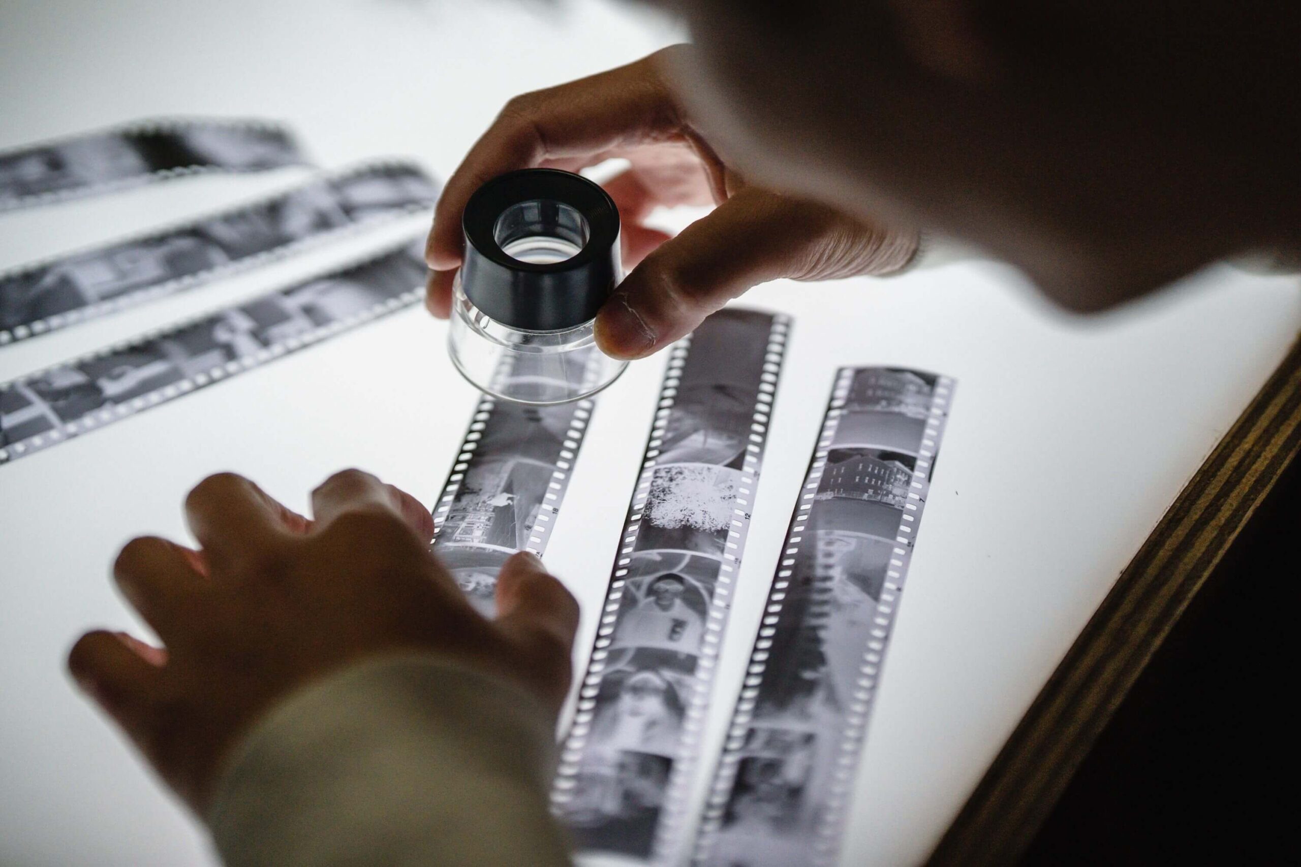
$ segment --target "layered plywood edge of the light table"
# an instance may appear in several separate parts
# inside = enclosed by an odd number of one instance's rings
[[[1301,448],[1301,342],[1180,491],[932,853],[1013,863],[1189,602]]]

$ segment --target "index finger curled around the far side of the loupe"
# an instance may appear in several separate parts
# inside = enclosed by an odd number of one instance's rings
[[[683,122],[660,64],[665,52],[684,49],[673,45],[506,103],[442,188],[425,246],[429,268],[450,270],[461,264],[461,213],[475,190],[498,174],[544,161],[582,168],[585,157],[680,136]]]

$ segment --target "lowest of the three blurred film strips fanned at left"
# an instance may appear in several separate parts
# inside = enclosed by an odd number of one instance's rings
[[[0,464],[419,302],[420,242],[0,383]]]

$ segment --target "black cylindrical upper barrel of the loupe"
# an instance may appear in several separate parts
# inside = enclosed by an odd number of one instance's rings
[[[579,174],[523,169],[493,178],[470,196],[462,229],[462,291],[514,329],[588,322],[622,276],[618,208]]]

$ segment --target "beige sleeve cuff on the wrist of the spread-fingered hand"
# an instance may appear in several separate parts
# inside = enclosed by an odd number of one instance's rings
[[[229,867],[570,864],[548,812],[549,716],[428,658],[295,693],[237,747],[208,825]]]

